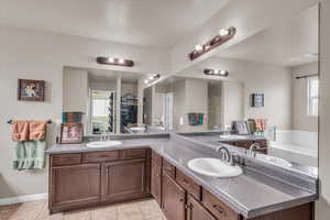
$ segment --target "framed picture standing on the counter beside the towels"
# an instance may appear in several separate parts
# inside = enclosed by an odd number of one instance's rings
[[[84,125],[82,123],[62,123],[61,124],[61,144],[82,143]]]

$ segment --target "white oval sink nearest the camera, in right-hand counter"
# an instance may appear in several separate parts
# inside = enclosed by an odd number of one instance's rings
[[[231,166],[219,158],[194,158],[188,162],[188,167],[212,177],[235,177],[243,174],[240,166]]]

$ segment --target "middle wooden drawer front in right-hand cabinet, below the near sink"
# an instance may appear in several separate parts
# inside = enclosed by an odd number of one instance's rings
[[[197,200],[200,200],[201,187],[196,184],[190,177],[186,176],[184,173],[177,169],[176,180],[184,189],[187,190],[188,194],[194,196]]]

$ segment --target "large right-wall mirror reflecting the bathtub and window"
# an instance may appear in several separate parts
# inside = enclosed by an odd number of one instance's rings
[[[151,121],[248,150],[265,140],[256,158],[317,176],[318,33],[315,6],[166,78],[150,88]]]

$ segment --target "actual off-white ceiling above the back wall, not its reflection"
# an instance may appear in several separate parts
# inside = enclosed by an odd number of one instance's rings
[[[141,46],[173,47],[228,2],[1,0],[0,24]]]

